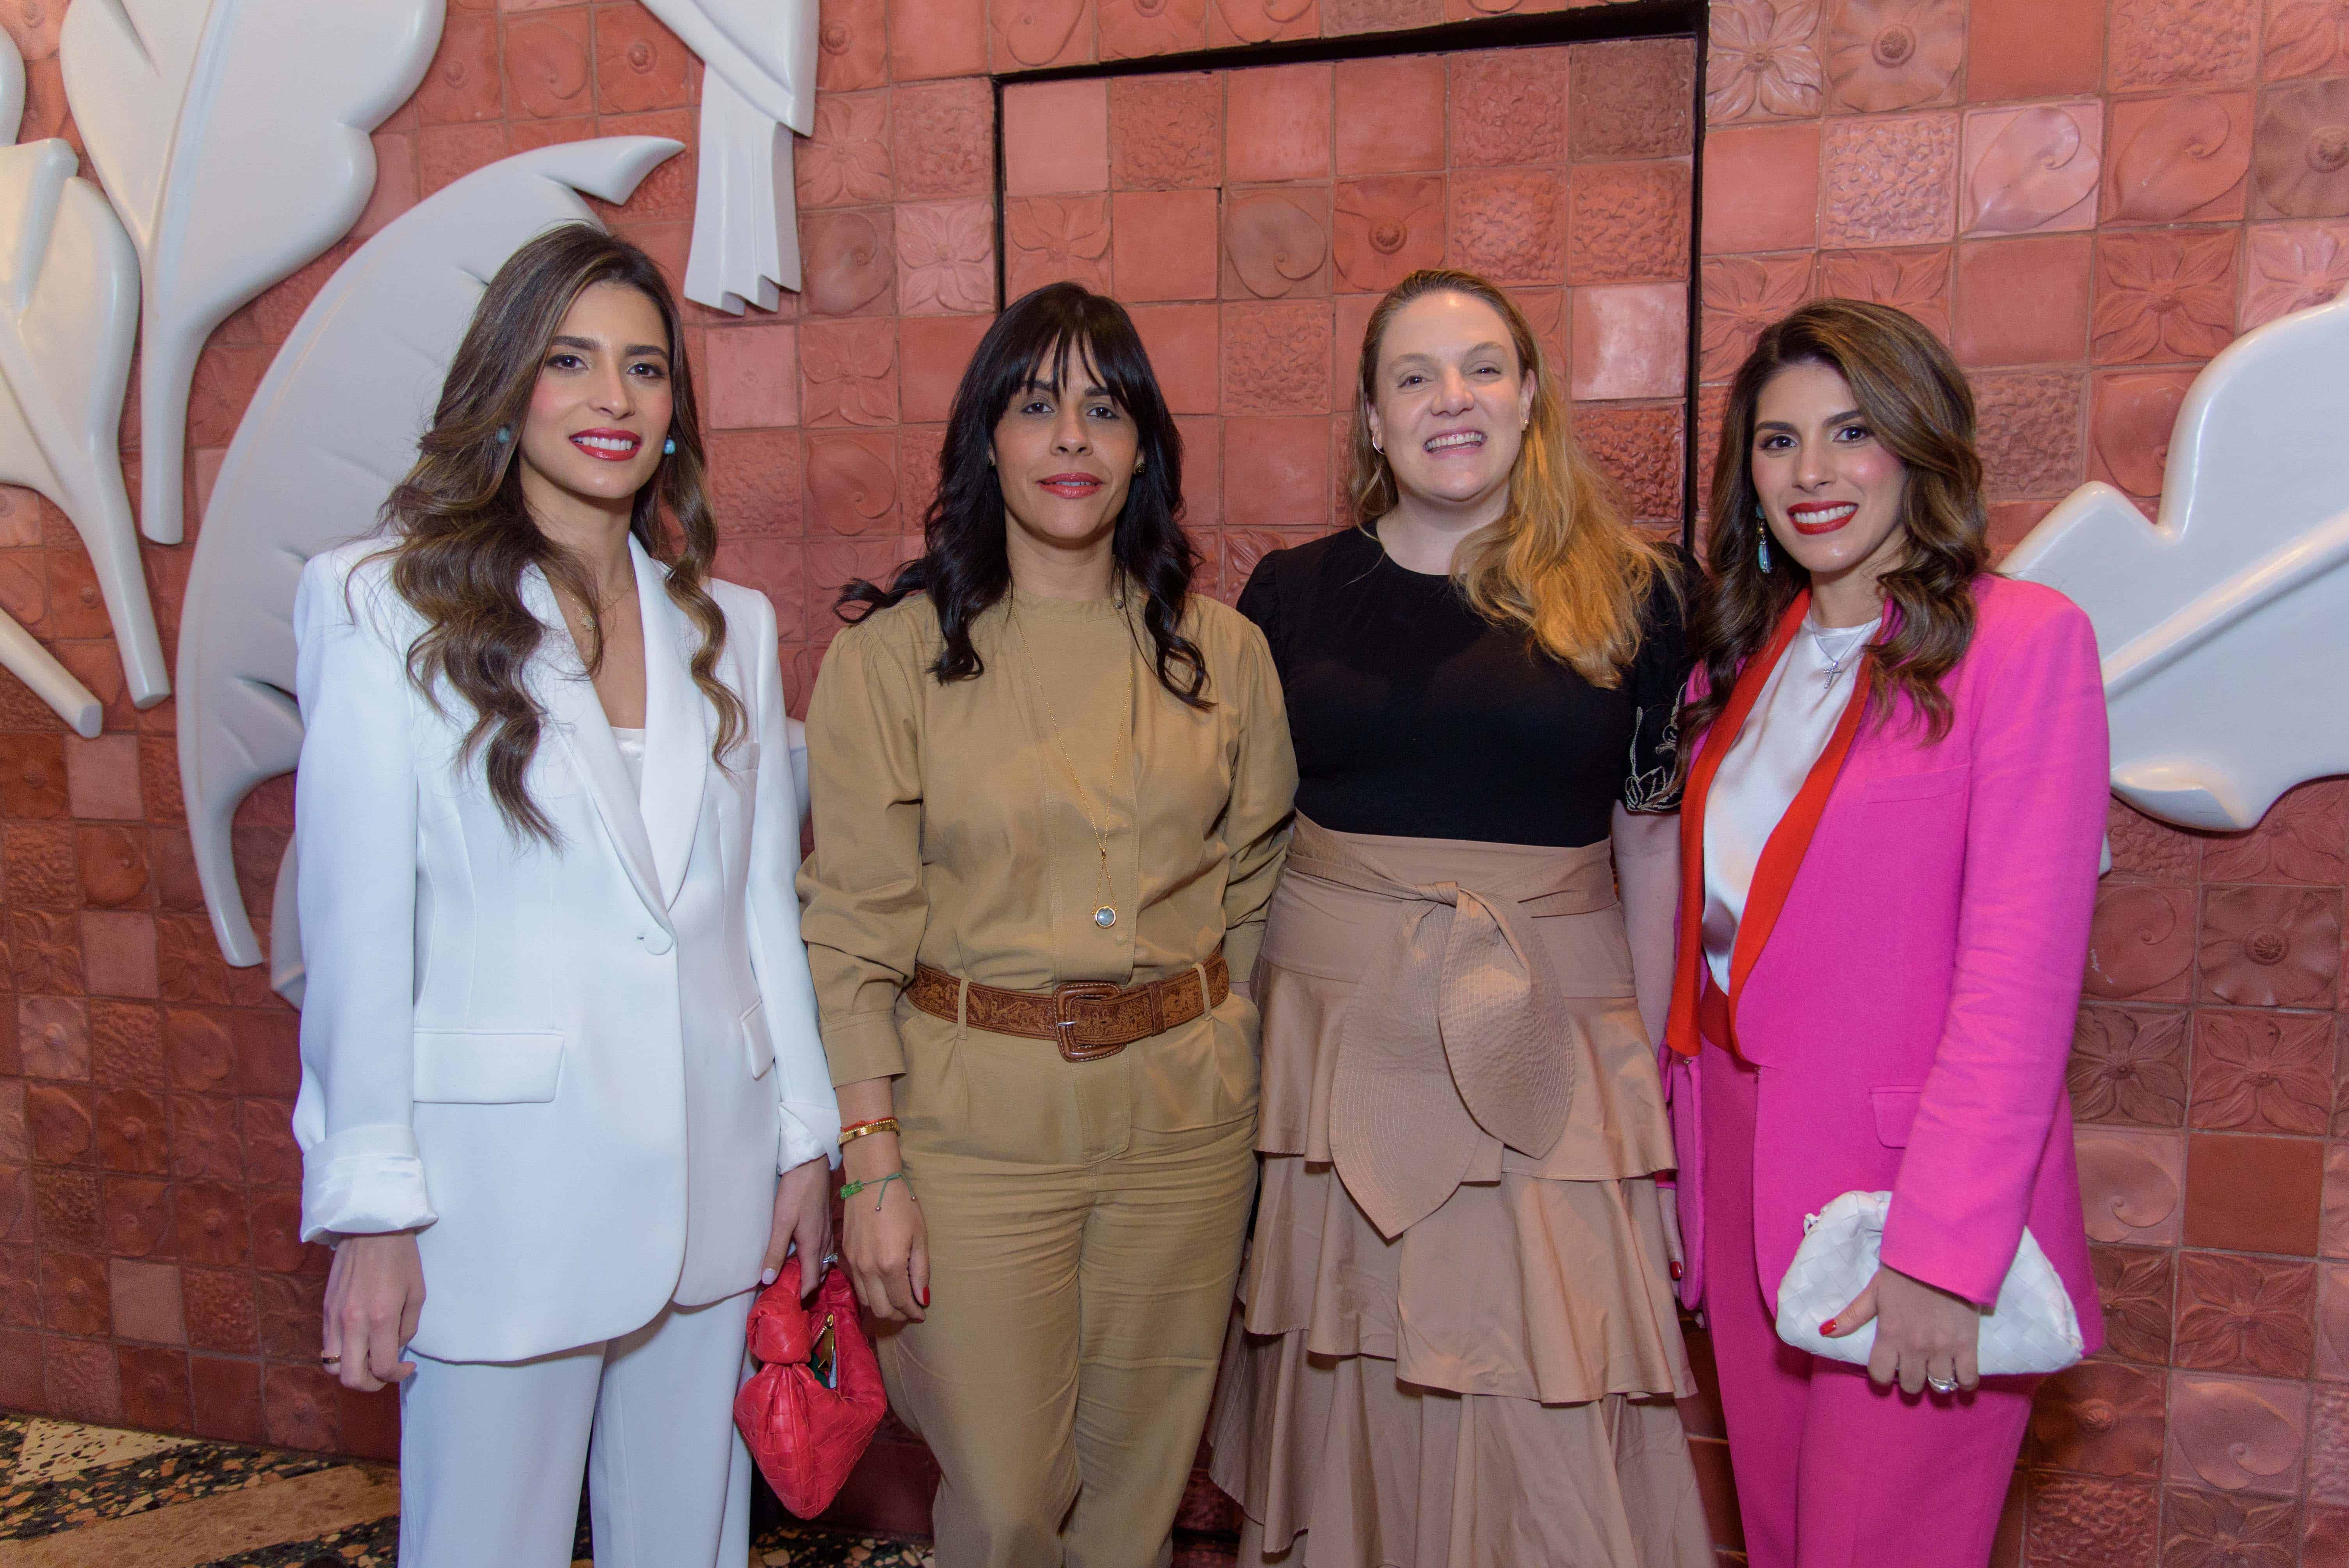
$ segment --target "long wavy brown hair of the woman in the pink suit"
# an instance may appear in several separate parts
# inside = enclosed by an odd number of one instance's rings
[[[1983,458],[1973,446],[1973,390],[1957,359],[1914,317],[1863,300],[1811,300],[1755,340],[1722,415],[1712,460],[1710,592],[1689,620],[1689,643],[1710,692],[1691,704],[1684,732],[1701,735],[1736,685],[1738,671],[1811,584],[1790,552],[1762,570],[1755,530],[1762,500],[1752,484],[1755,406],[1762,387],[1797,364],[1823,364],[1851,383],[1867,427],[1907,469],[1900,530],[1907,552],[1877,582],[1893,606],[1893,634],[1867,648],[1870,716],[1907,697],[1933,737],[1950,730],[1943,676],[1973,643],[1973,580],[1990,570]]]

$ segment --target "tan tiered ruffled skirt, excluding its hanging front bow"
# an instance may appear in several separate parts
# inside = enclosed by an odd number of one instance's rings
[[[1496,885],[1543,850],[1315,836],[1405,883]],[[1292,850],[1294,854],[1294,850]],[[1506,1150],[1386,1239],[1330,1153],[1348,995],[1393,901],[1299,869],[1273,897],[1264,1188],[1207,1432],[1247,1514],[1243,1563],[1299,1568],[1710,1568],[1672,1406],[1691,1392],[1654,1174],[1672,1167],[1623,913],[1534,922],[1581,1028],[1567,1131]],[[1435,1021],[1428,1021],[1435,1028]]]

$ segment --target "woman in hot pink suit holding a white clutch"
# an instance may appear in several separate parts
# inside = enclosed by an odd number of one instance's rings
[[[2088,620],[1987,570],[1973,397],[1879,305],[1766,329],[1729,394],[1696,615],[1661,1052],[1682,1298],[1755,1568],[1980,1568],[2032,1378],[1978,1378],[2025,1225],[2095,1350],[2065,1056],[2105,826]],[[1884,1268],[1778,1340],[1804,1216],[1889,1190]]]

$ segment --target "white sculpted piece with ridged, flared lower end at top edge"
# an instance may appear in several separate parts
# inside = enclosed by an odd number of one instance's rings
[[[702,56],[686,298],[742,315],[799,291],[792,131],[815,131],[815,0],[644,0]]]

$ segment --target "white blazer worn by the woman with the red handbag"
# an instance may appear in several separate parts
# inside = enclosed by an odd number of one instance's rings
[[[749,711],[726,765],[693,622],[634,542],[644,800],[554,592],[524,678],[547,714],[531,798],[559,850],[498,817],[472,711],[409,681],[423,620],[381,540],[315,556],[294,599],[308,735],[294,847],[303,1239],[420,1225],[413,1347],[517,1361],[606,1340],[669,1300],[759,1282],[775,1174],[839,1157],[799,944],[799,798],[775,610],[712,582],[716,676]],[[766,765],[761,765],[761,758]]]

